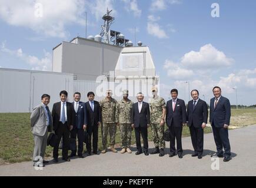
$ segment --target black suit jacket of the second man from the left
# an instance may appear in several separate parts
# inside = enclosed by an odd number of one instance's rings
[[[52,107],[52,122],[54,123],[54,130],[58,129],[59,118],[61,117],[61,102],[54,103]],[[67,118],[68,128],[75,125],[75,109],[72,103],[67,102]]]

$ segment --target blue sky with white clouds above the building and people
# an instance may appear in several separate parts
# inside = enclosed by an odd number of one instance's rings
[[[35,16],[35,4],[42,16]],[[211,16],[211,5],[220,6],[220,17]],[[256,104],[256,1],[231,0],[0,0],[0,66],[2,68],[51,70],[52,48],[79,35],[101,31],[107,9],[113,9],[113,30],[149,46],[160,94],[177,88],[188,100],[198,89],[209,102],[211,89],[222,88],[235,105]],[[204,95],[204,98],[202,97]]]

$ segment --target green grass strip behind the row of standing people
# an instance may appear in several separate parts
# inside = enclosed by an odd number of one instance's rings
[[[231,125],[247,126],[256,124],[255,112],[255,109],[232,109]],[[31,133],[29,117],[30,113],[0,113],[0,164],[32,160],[34,139]],[[211,127],[205,127],[204,132],[210,133]],[[98,135],[98,147],[99,150],[101,150],[101,129],[99,129]],[[182,136],[190,136],[188,127],[184,127]],[[150,127],[148,128],[148,140],[152,140]],[[121,146],[119,127],[117,129],[115,142],[116,147]],[[132,131],[131,142],[132,145],[135,144],[134,131]],[[59,150],[59,154],[61,155],[61,150]],[[52,147],[46,147],[45,157],[52,157]]]

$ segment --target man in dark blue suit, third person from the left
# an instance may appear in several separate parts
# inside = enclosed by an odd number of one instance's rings
[[[72,105],[75,109],[75,124],[73,129],[70,131],[70,137],[74,140],[78,137],[78,157],[84,158],[82,156],[82,151],[84,150],[84,130],[87,127],[87,113],[85,103],[80,101],[81,93],[74,93],[74,102]],[[72,150],[71,156],[73,157],[77,153],[77,142],[74,142],[75,150]]]

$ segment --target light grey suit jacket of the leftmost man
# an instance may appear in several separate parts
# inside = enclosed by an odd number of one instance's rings
[[[49,118],[51,118],[51,122],[53,122],[52,116],[50,116]],[[46,125],[47,114],[45,113],[44,106],[42,104],[36,106],[33,109],[30,116],[30,122],[32,127],[31,131],[34,135],[44,136],[47,130],[47,127],[48,127],[48,132],[52,132],[52,123],[49,126]]]

